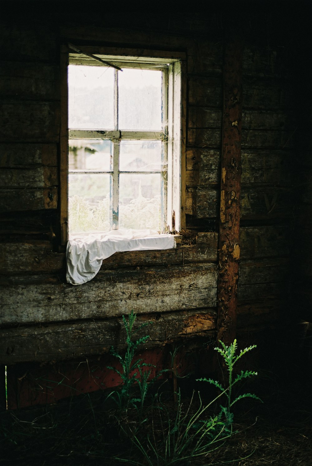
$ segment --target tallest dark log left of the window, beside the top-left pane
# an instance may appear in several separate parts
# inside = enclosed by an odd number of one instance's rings
[[[8,101],[0,105],[0,112],[0,141],[57,143],[59,140],[59,103]]]

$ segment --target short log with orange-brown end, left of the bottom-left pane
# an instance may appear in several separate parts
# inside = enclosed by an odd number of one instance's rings
[[[48,189],[0,189],[0,212],[56,209],[57,187]]]

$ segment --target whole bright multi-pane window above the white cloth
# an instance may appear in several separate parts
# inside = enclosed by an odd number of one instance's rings
[[[84,50],[90,54],[90,48]],[[67,53],[63,224],[69,234],[118,228],[179,231],[184,223],[181,58],[157,52],[95,53],[111,66],[90,55]],[[67,228],[63,233],[65,240]]]

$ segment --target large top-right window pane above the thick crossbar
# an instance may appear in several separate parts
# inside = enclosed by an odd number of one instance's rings
[[[119,129],[161,129],[161,71],[118,71]]]

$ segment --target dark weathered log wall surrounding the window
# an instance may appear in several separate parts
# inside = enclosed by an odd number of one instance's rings
[[[219,258],[226,40],[222,12],[204,19],[195,13],[189,18],[169,12],[170,21],[161,25],[156,13],[143,22],[142,16],[131,16],[130,23],[121,14],[117,28],[69,12],[56,21],[53,14],[51,10],[55,21],[44,20],[37,10],[29,21],[2,20],[0,364],[105,353],[111,344],[122,342],[121,316],[132,309],[140,320],[155,322],[149,346],[211,339]],[[257,17],[251,15],[249,21],[256,27]],[[104,261],[94,280],[79,287],[65,282],[65,254],[59,248],[60,46],[68,41],[187,54],[187,232],[176,250],[115,254]],[[303,104],[304,98],[298,100],[301,89],[292,66],[296,54],[293,45],[287,45],[259,41],[251,28],[243,46],[237,296],[242,336],[300,317],[289,305],[290,270],[298,202],[303,237],[311,231],[305,211],[312,204],[312,165],[311,145],[305,145],[298,170],[298,102]],[[307,75],[302,81],[306,79]],[[304,173],[306,189],[298,196],[299,172]],[[307,250],[304,276],[310,281],[311,247]]]

